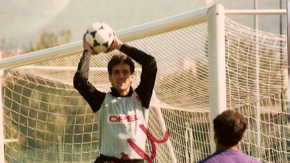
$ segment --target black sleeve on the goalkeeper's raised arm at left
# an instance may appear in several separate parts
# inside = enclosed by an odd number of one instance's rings
[[[100,110],[106,94],[98,91],[89,81],[89,67],[91,54],[84,50],[73,78],[73,86],[79,94],[89,103],[93,112]]]

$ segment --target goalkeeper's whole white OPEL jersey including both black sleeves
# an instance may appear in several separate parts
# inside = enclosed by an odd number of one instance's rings
[[[127,140],[130,139],[145,151],[147,135],[139,125],[147,127],[148,108],[157,74],[157,64],[154,57],[135,47],[123,44],[120,51],[142,66],[138,87],[134,91],[130,87],[126,97],[121,97],[113,88],[110,93],[100,92],[89,82],[92,55],[88,50],[83,51],[73,84],[93,112],[98,114],[100,154],[121,158],[121,153],[124,153],[130,159],[140,159]]]

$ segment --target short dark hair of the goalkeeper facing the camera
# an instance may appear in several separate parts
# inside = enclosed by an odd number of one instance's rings
[[[127,64],[130,67],[130,72],[133,73],[135,71],[135,65],[132,59],[125,55],[114,55],[108,63],[108,73],[112,75],[112,69],[115,65]]]

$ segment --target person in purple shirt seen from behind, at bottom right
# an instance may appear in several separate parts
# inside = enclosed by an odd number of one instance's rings
[[[247,128],[246,118],[237,112],[227,110],[214,119],[216,152],[199,163],[256,163],[257,160],[239,151],[238,143]]]

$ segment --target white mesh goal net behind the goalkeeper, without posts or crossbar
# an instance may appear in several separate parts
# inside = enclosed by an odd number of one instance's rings
[[[154,162],[197,162],[211,153],[207,22],[128,41],[155,57],[158,73],[148,131]],[[255,31],[225,18],[227,109],[242,113],[248,128],[239,148],[262,162],[287,162],[286,36]],[[65,45],[66,46],[66,45]],[[93,56],[89,80],[108,92],[107,63],[118,53]],[[82,53],[5,69],[2,76],[7,162],[93,162],[97,116],[73,88]],[[140,65],[136,63],[139,83]],[[150,142],[147,153],[152,154]]]

